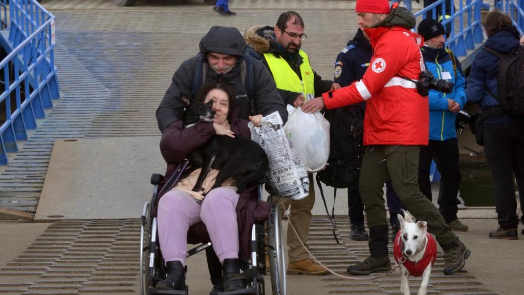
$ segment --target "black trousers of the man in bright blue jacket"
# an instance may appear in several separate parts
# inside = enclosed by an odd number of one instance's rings
[[[429,179],[431,160],[439,170],[439,211],[447,223],[457,219],[460,204],[457,194],[461,181],[459,170],[459,142],[456,138],[438,141],[430,140],[427,146],[420,147],[419,186],[420,191],[432,201],[431,182]]]

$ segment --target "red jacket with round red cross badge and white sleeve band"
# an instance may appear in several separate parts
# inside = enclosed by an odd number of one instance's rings
[[[425,69],[420,52],[422,38],[400,27],[364,29],[373,57],[362,80],[322,95],[327,109],[367,101],[365,145],[427,145],[429,101],[415,83]]]

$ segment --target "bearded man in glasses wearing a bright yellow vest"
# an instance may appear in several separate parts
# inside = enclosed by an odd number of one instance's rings
[[[263,56],[264,64],[271,71],[278,92],[285,104],[301,106],[308,99],[323,91],[340,88],[333,81],[322,80],[309,63],[308,55],[300,50],[305,39],[304,21],[294,11],[282,13],[275,27],[255,26],[247,29],[245,38],[255,51]],[[304,132],[308,132],[304,130]],[[309,196],[300,201],[286,202],[290,206],[290,219],[297,228],[299,239],[307,245],[311,209],[315,204],[313,176],[309,174]],[[309,258],[299,239],[288,228],[287,245],[289,255],[288,275],[324,275],[328,273],[322,266]]]

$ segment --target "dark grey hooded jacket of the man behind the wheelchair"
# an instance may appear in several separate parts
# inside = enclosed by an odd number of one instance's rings
[[[221,81],[233,87],[237,97],[238,118],[247,120],[249,115],[254,115],[251,113],[251,100],[253,98],[247,97],[247,91],[241,77],[245,48],[246,43],[238,29],[212,27],[208,34],[200,40],[200,53],[182,62],[177,71],[174,72],[171,85],[164,94],[156,112],[160,131],[164,132],[173,122],[182,120],[184,104],[180,96],[182,94],[188,97],[192,96],[193,77],[199,59],[203,61],[203,65],[206,67],[205,82]],[[217,73],[208,64],[206,59],[208,52],[238,56],[237,64],[225,74]],[[288,113],[269,71],[262,62],[255,58],[253,58],[253,71],[256,114],[267,115],[278,111],[282,120],[286,122]]]

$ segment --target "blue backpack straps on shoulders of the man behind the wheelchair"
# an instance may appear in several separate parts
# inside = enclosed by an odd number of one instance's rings
[[[200,54],[199,54],[200,55]],[[251,46],[246,46],[244,50],[244,60],[240,68],[240,75],[244,82],[244,89],[247,97],[251,101],[251,113],[255,112],[255,77],[253,71],[253,59],[261,60],[262,57]],[[196,62],[196,69],[193,76],[193,84],[191,86],[191,94],[193,97],[202,88],[205,81],[207,67],[204,64],[203,58],[199,58]]]

